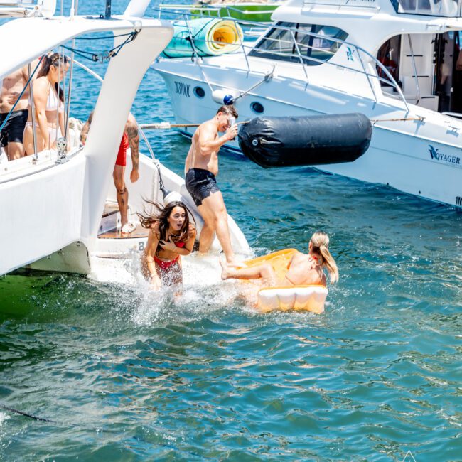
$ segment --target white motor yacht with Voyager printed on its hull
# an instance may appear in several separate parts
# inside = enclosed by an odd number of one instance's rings
[[[461,0],[289,0],[237,53],[159,58],[178,124],[361,112],[367,152],[322,171],[462,206]],[[335,127],[332,127],[335,130]],[[193,129],[185,128],[190,136]],[[237,141],[228,146],[239,151]]]

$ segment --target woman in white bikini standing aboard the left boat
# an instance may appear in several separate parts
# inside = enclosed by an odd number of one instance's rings
[[[60,82],[68,72],[69,62],[59,53],[48,53],[43,58],[41,70],[33,82],[33,103],[36,112],[37,152],[56,147],[56,139],[64,134],[64,92]],[[32,111],[23,134],[26,154],[33,154]]]

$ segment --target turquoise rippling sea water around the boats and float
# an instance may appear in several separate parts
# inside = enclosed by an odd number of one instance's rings
[[[77,116],[96,92],[76,87]],[[133,112],[173,120],[154,72]],[[181,173],[188,141],[149,138]],[[53,422],[0,411],[0,459],[462,460],[460,211],[232,156],[219,182],[258,254],[331,235],[326,313],[258,314],[229,284],[159,302],[75,275],[1,277],[0,404]]]

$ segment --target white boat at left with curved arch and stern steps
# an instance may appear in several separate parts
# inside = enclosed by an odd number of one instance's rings
[[[62,82],[67,129],[64,139],[58,139],[58,149],[0,163],[0,275],[27,265],[83,274],[109,268],[110,273],[114,259],[133,257],[130,254],[136,259],[137,252],[144,249],[146,230],[138,226],[126,235],[117,230],[119,213],[112,170],[139,83],[172,36],[170,23],[142,17],[148,4],[149,0],[131,0],[123,15],[111,16],[109,1],[106,15],[101,17],[77,16],[73,2],[69,16],[53,16],[53,0],[38,4],[1,2],[0,16],[19,18],[0,27],[0,42],[14,43],[1,49],[0,80],[50,50],[61,52],[61,45],[70,48],[72,54],[68,80]],[[69,118],[78,38],[94,38],[97,43],[108,33],[113,34],[114,44],[92,57],[108,60],[109,64],[104,79],[100,79],[87,142],[80,146],[78,124],[72,125]],[[31,37],[36,40],[31,41]],[[101,45],[104,47],[107,40]],[[69,151],[66,144],[70,145]],[[131,221],[138,221],[136,212],[142,212],[144,198],[161,203],[163,190],[169,190],[177,198],[182,196],[200,230],[202,220],[183,179],[161,166],[154,155],[153,159],[140,155],[139,162],[139,181],[131,183],[131,160],[127,156]],[[236,251],[247,251],[247,241],[231,218],[230,232]]]

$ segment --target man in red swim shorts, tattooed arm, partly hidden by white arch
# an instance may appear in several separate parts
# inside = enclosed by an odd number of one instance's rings
[[[87,140],[87,134],[90,130],[90,124],[92,123],[93,112],[88,116],[88,120],[80,132],[80,141],[85,144]],[[133,168],[130,173],[131,183],[135,183],[139,178],[139,134],[138,125],[136,124],[135,118],[129,114],[127,123],[124,128],[124,135],[122,141],[120,141],[119,152],[117,153],[117,159],[112,172],[112,178],[114,178],[114,186],[117,190],[117,204],[120,210],[120,221],[122,225],[122,232],[128,234],[133,232],[136,228],[134,223],[129,222],[128,209],[129,209],[129,192],[125,186],[124,173],[125,166],[127,165],[127,149],[130,147],[131,151],[131,163]]]

